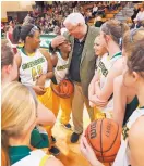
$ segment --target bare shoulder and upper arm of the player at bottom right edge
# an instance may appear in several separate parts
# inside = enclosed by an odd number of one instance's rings
[[[129,131],[130,158],[132,166],[144,165],[144,116],[141,116]]]

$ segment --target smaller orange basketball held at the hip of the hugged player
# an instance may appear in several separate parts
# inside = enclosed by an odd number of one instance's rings
[[[68,80],[68,79],[63,79],[59,84],[59,87],[60,87],[60,93],[63,93],[67,97],[70,97],[73,93],[73,91],[74,91],[73,84],[70,80]]]

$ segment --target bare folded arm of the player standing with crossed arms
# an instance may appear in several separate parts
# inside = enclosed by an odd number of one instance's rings
[[[99,105],[100,102],[103,102],[105,103],[103,106],[106,106],[108,99],[113,93],[113,79],[121,74],[122,74],[122,59],[118,60],[115,63],[115,65],[112,66],[111,71],[107,76],[107,81],[101,89],[99,87],[99,82],[96,81],[95,85],[96,94],[92,95],[89,100],[96,103],[96,105]]]

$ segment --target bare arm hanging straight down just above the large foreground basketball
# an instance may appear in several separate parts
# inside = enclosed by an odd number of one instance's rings
[[[122,126],[125,105],[127,105],[127,89],[122,84],[122,76],[115,78],[113,82],[113,119]]]

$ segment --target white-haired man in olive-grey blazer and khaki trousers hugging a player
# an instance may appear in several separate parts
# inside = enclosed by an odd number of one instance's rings
[[[88,102],[88,85],[94,76],[96,56],[94,53],[94,40],[99,34],[99,28],[85,24],[81,13],[71,13],[63,22],[65,28],[64,37],[71,42],[72,51],[69,54],[69,77],[74,82],[74,95],[72,100],[72,119],[74,132],[71,142],[75,143],[83,132],[84,103],[87,107],[91,120],[94,120],[94,110]],[[50,50],[53,51],[63,42],[63,37],[56,37]]]

